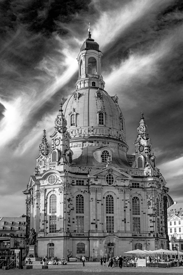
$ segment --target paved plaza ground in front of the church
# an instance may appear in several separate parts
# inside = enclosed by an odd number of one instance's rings
[[[89,271],[89,272],[88,272]],[[134,275],[141,275],[141,274],[176,274],[182,275],[183,267],[171,267],[171,268],[148,268],[148,267],[124,267],[120,269],[117,268],[109,268],[106,266],[100,266],[100,263],[91,263],[86,262],[85,267],[83,267],[82,262],[73,262],[67,263],[67,265],[49,265],[48,269],[42,269],[42,265],[33,266],[33,269],[10,269],[10,270],[0,270],[0,275],[82,275],[82,274],[134,274]]]

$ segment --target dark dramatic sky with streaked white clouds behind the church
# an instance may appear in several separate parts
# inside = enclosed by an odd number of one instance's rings
[[[35,171],[61,97],[74,92],[88,35],[100,45],[102,75],[117,94],[134,153],[144,112],[169,194],[182,202],[182,0],[0,1],[0,216],[26,212],[22,191]]]

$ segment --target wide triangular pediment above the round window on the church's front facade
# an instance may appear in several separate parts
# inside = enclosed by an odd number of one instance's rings
[[[110,171],[111,169],[112,169],[112,172]],[[105,168],[102,168],[100,170],[97,170],[97,171],[89,174],[88,178],[90,178],[90,177],[92,178],[95,176],[104,177],[107,173],[109,173],[109,174],[114,173],[117,176],[117,179],[121,179],[121,178],[132,179],[132,177],[130,175],[128,175],[124,171],[121,171],[120,169],[114,167],[113,165],[109,165]]]

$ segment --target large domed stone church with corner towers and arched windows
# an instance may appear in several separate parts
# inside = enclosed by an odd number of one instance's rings
[[[144,114],[139,112],[135,155],[128,155],[125,119],[117,95],[105,91],[102,56],[89,27],[74,92],[62,97],[50,140],[43,130],[35,173],[23,191],[26,234],[35,229],[39,257],[167,249],[169,189],[156,167]]]

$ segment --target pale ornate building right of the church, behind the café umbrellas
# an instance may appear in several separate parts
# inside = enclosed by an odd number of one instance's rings
[[[179,251],[183,252],[183,202],[174,202],[167,209],[169,248],[175,249],[179,245]]]

